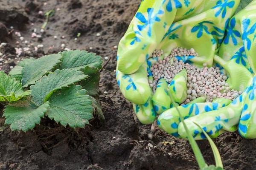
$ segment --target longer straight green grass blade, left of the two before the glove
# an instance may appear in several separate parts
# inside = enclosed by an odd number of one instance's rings
[[[186,126],[186,123],[184,122],[184,119],[181,116],[181,113],[180,113],[179,109],[177,108],[177,103],[174,102],[174,99],[173,99],[172,95],[170,95],[170,98],[172,100],[172,103],[174,103],[174,106],[175,106],[177,112],[179,113],[181,122],[183,123],[183,126],[184,126],[184,128],[186,130],[186,134],[188,136],[189,143],[190,143],[190,145],[192,147],[192,150],[194,152],[195,159],[198,162],[198,166],[199,166],[200,169],[203,169],[204,167],[207,167],[207,164],[204,161],[204,157],[203,157],[203,155],[201,153],[201,150],[199,149],[198,144],[195,142],[195,139],[193,138],[192,134],[189,133],[189,129]]]

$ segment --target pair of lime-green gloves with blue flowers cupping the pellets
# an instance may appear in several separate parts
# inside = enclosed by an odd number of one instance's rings
[[[144,0],[121,39],[117,54],[116,78],[125,98],[143,124],[151,124],[157,113],[160,128],[174,136],[186,137],[183,126],[172,107],[170,95],[182,102],[186,96],[186,73],[177,75],[171,86],[159,80],[153,94],[148,79],[150,66],[157,58],[150,57],[155,49],[163,50],[160,59],[173,48],[194,48],[199,57],[183,60],[201,67],[218,65],[224,68],[230,88],[244,91],[235,101],[216,99],[204,103],[204,98],[179,106],[196,139],[204,138],[197,122],[212,137],[234,131],[239,124],[242,136],[254,138],[254,88],[256,71],[256,0],[233,16],[239,0]],[[233,17],[232,17],[233,16]],[[185,84],[184,84],[185,82]],[[174,88],[175,87],[175,88]],[[176,90],[174,90],[176,89]],[[196,103],[195,103],[196,102]],[[170,108],[170,109],[169,109]],[[242,115],[241,115],[242,114]],[[241,117],[241,119],[240,119]],[[240,123],[239,123],[240,119]],[[250,125],[250,127],[248,127]],[[256,133],[255,133],[256,134]]]

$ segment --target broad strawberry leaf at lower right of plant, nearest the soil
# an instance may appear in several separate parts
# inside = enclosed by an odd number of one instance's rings
[[[55,91],[49,98],[50,107],[47,116],[61,125],[72,128],[84,127],[93,118],[93,106],[86,90],[80,85],[72,85]]]

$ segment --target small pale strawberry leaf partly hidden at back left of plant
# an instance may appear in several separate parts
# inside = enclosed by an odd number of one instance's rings
[[[9,72],[9,75],[12,78],[20,81],[22,79],[22,69],[26,64],[30,64],[32,61],[35,61],[35,58],[23,59],[14,68],[12,68],[12,70]]]

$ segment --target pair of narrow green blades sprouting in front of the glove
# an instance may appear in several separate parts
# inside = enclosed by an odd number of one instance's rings
[[[195,159],[196,161],[198,162],[198,166],[201,170],[223,170],[223,165],[222,165],[222,162],[221,162],[221,156],[220,156],[220,153],[218,152],[218,149],[216,147],[216,145],[214,144],[214,142],[212,141],[212,139],[208,136],[208,134],[202,129],[202,127],[200,125],[198,125],[197,123],[195,123],[195,125],[197,125],[198,127],[201,128],[202,132],[204,133],[204,135],[207,137],[211,147],[212,147],[212,152],[213,152],[213,155],[214,155],[214,158],[215,158],[215,164],[216,166],[214,165],[207,165],[205,160],[204,160],[204,157],[201,153],[201,150],[199,149],[198,147],[198,144],[196,143],[195,139],[193,138],[192,134],[189,133],[189,129],[188,127],[186,126],[186,123],[184,122],[184,119],[183,117],[181,116],[181,113],[179,111],[179,109],[177,108],[177,103],[174,102],[173,100],[173,97],[172,95],[170,96],[172,102],[174,103],[174,106],[177,110],[177,112],[179,113],[179,116],[180,116],[180,119],[181,119],[181,122],[186,130],[186,134],[188,136],[188,139],[189,139],[189,143],[192,147],[192,150],[195,154]]]

